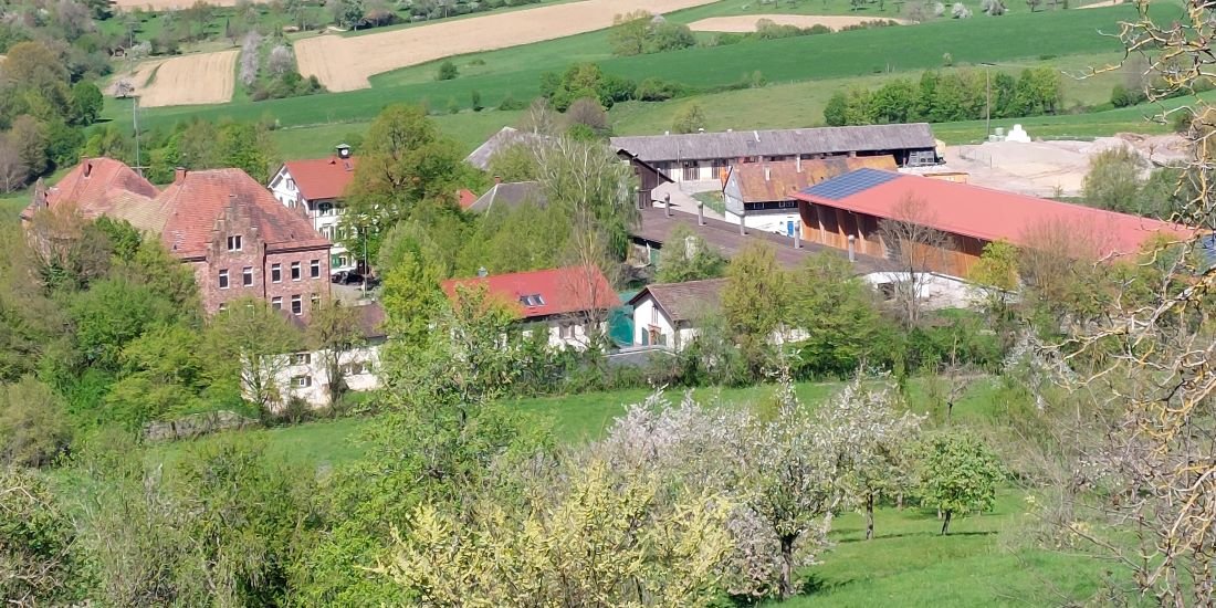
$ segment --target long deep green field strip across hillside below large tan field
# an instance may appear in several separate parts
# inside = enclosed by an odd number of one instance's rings
[[[1173,9],[1164,6],[1159,11],[1167,18]],[[635,80],[658,77],[696,88],[715,88],[731,85],[756,71],[771,83],[916,72],[940,67],[945,52],[951,54],[956,66],[1114,54],[1120,49],[1119,41],[1098,35],[1098,30],[1111,30],[1119,19],[1132,15],[1132,9],[1118,6],[936,21],[635,57],[606,57],[606,34],[596,32],[458,57],[456,62],[466,68],[473,60],[484,61],[485,66],[477,67],[484,73],[469,73],[455,80],[435,81],[434,66],[420,66],[382,74],[367,90],[223,106],[150,108],[142,112],[142,122],[154,126],[192,116],[241,120],[270,118],[282,126],[360,122],[392,102],[426,101],[433,108],[443,108],[455,100],[467,107],[474,90],[482,94],[486,106],[496,106],[508,94],[518,100],[536,96],[541,73],[592,57],[603,57],[601,66],[606,72]],[[1026,32],[1035,35],[1025,35]],[[107,116],[119,123],[125,124],[129,114],[128,102],[112,100],[107,103]]]

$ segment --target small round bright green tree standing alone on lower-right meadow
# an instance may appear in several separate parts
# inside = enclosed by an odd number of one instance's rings
[[[921,495],[927,507],[942,512],[941,534],[953,516],[991,510],[1004,472],[996,454],[968,433],[930,437],[922,446]]]

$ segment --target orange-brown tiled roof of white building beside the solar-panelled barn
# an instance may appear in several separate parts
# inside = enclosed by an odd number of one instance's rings
[[[831,157],[814,161],[737,163],[728,179],[737,181],[744,203],[793,201],[793,192],[856,169],[895,170],[895,157]],[[767,174],[765,173],[767,171]]]

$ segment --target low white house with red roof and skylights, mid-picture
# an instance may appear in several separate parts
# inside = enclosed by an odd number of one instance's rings
[[[603,333],[607,313],[620,305],[612,283],[595,266],[451,278],[440,285],[454,303],[458,288],[480,286],[485,287],[488,297],[514,306],[520,321],[545,327],[553,347],[585,348],[589,325],[598,325]]]

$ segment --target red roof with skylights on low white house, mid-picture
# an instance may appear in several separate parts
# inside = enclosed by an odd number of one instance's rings
[[[620,298],[599,269],[572,266],[530,272],[512,272],[486,277],[451,278],[441,287],[447,298],[456,300],[457,287],[485,285],[490,297],[519,306],[523,319],[564,315],[584,310],[609,309],[620,305]],[[524,305],[520,298],[540,295],[541,304]]]

